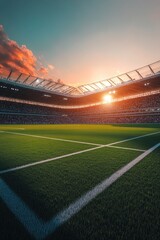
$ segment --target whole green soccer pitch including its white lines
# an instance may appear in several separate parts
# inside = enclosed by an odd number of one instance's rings
[[[160,239],[160,124],[1,125],[0,239]]]

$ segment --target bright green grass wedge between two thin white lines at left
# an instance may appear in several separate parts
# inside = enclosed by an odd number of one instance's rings
[[[92,146],[2,133],[0,170],[80,151]]]

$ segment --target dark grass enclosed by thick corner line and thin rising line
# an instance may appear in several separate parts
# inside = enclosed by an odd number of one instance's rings
[[[96,154],[72,156],[10,173],[3,178],[23,200],[27,199],[38,215],[49,219],[136,156],[137,152],[99,149]]]

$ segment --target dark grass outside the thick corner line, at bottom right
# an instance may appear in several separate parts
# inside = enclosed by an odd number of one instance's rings
[[[160,239],[160,150],[126,173],[53,239]],[[80,226],[80,227],[79,227]]]

